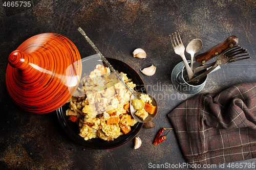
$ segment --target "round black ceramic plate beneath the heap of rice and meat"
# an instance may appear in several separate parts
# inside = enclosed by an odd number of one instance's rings
[[[96,66],[95,63],[102,64],[102,61],[99,61],[99,57],[95,55],[95,57],[87,57],[82,59],[83,60],[83,72],[93,70]],[[145,84],[141,77],[138,75],[138,73],[129,65],[125,64],[122,61],[119,61],[117,59],[113,58],[106,58],[113,67],[118,70],[119,72],[124,72],[127,74],[128,78],[132,78],[133,83],[135,83],[136,90],[139,92],[147,93],[145,90]],[[85,64],[86,63],[86,64]],[[84,67],[86,65],[86,67]],[[91,149],[97,149],[97,150],[108,150],[120,147],[121,145],[129,142],[132,140],[141,130],[143,123],[137,123],[132,128],[132,130],[127,133],[126,135],[121,135],[117,139],[114,139],[113,141],[104,141],[100,138],[93,138],[90,140],[84,140],[82,137],[80,137],[79,129],[76,123],[73,123],[69,120],[69,117],[66,116],[66,110],[69,108],[69,104],[65,104],[64,106],[57,109],[57,117],[58,121],[60,123],[60,126],[62,129],[68,134],[68,136],[73,139],[75,142],[83,145],[84,147],[91,148]]]

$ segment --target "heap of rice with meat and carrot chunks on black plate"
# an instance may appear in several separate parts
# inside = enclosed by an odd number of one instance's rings
[[[127,86],[135,87],[126,74],[120,72],[119,75]],[[114,140],[129,133],[137,123],[129,112],[131,94],[114,72],[98,64],[90,75],[81,79],[66,115],[79,117],[76,122],[84,140],[96,137]]]

